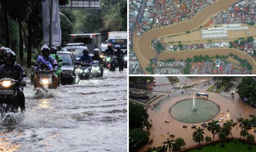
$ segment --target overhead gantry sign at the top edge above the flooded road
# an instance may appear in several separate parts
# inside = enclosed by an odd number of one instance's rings
[[[60,7],[72,9],[100,9],[100,0],[70,0],[69,4]]]

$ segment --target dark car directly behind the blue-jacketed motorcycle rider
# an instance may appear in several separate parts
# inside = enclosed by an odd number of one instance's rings
[[[79,83],[80,63],[75,55],[69,51],[57,51],[57,55],[62,58],[62,85]]]

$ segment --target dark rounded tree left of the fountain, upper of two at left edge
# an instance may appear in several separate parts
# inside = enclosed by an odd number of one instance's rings
[[[149,127],[147,110],[140,104],[129,102],[129,125],[134,128]]]

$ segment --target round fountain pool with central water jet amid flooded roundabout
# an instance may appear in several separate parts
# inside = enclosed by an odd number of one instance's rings
[[[169,112],[178,121],[198,123],[215,117],[219,113],[219,106],[213,101],[193,97],[193,99],[177,102]]]

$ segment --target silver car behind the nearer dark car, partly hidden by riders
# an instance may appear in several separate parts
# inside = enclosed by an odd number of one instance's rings
[[[88,47],[83,43],[69,43],[65,44],[61,51],[64,51],[64,49],[72,52],[75,55],[76,60],[78,61],[78,59],[83,56],[83,50],[88,49]],[[93,53],[90,52],[90,56],[93,56]]]

